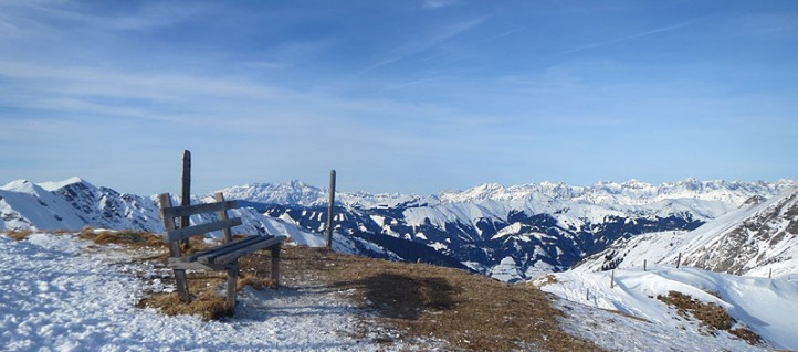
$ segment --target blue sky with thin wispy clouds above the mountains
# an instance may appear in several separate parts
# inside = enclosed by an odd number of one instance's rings
[[[798,179],[796,1],[0,1],[0,183]]]

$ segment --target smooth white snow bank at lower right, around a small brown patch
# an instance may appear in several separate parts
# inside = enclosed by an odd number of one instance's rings
[[[696,268],[657,267],[615,270],[615,287],[610,287],[611,271],[565,271],[554,274],[556,282],[538,278],[535,285],[568,301],[645,319],[665,330],[700,330],[694,322],[685,322],[658,295],[675,290],[704,302],[713,302],[728,310],[729,316],[779,349],[798,349],[798,282],[781,279],[741,277],[705,271]],[[722,344],[736,341],[726,332],[718,333]],[[744,342],[731,350],[746,350]]]

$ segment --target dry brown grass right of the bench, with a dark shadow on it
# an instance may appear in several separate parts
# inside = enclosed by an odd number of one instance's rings
[[[441,339],[458,351],[599,350],[561,331],[557,317],[563,312],[534,287],[426,264],[303,247],[286,248],[282,266],[288,282],[291,276],[302,275],[315,277],[330,289],[354,292],[361,308],[401,332],[399,339]],[[386,343],[393,340],[379,339]]]

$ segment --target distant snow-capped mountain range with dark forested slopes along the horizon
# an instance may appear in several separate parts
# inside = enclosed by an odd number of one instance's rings
[[[339,250],[522,280],[570,268],[619,239],[683,234],[746,202],[773,199],[797,186],[789,180],[687,179],[660,185],[636,180],[591,186],[483,184],[423,196],[339,192],[335,231]],[[242,232],[286,233],[298,242],[317,243],[325,230],[324,189],[292,181],[222,192],[243,201],[245,207],[235,211],[244,218]],[[162,231],[154,196],[119,194],[77,178],[41,184],[20,180],[0,188],[0,228],[85,225]]]

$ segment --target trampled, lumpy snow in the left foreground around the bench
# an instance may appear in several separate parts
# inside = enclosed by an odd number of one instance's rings
[[[123,254],[88,254],[87,245],[71,235],[33,234],[21,242],[0,236],[0,349],[386,350],[386,345],[351,337],[357,308],[337,292],[319,289],[248,289],[239,295],[237,314],[228,321],[167,317],[136,308],[153,287],[132,273],[145,270],[146,275],[151,268],[129,263]]]

